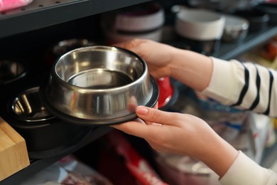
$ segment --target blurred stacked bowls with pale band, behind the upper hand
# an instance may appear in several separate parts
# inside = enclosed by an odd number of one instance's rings
[[[108,43],[147,38],[161,41],[164,11],[157,2],[131,6],[102,15],[102,28]]]

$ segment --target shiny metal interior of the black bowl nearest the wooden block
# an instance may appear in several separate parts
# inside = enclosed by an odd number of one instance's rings
[[[34,122],[48,120],[53,117],[40,101],[38,90],[38,87],[30,88],[14,98],[11,110],[16,118],[26,122]]]

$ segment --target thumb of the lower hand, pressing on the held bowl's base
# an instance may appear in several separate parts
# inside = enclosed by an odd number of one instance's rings
[[[145,122],[155,122],[161,125],[172,125],[175,113],[165,112],[151,107],[136,107],[136,115]]]

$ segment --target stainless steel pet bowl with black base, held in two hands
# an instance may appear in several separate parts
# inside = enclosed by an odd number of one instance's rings
[[[50,112],[67,122],[113,125],[134,120],[137,105],[153,107],[158,85],[136,53],[88,46],[56,61],[40,97]]]

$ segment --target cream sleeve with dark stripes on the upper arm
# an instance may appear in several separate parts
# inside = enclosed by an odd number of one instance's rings
[[[203,94],[223,105],[277,117],[276,70],[237,60],[212,60],[212,78]]]

